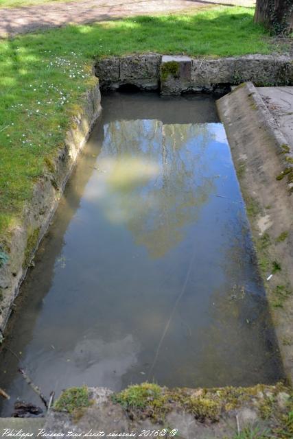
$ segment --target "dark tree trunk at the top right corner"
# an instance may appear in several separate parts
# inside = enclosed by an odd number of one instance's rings
[[[272,34],[289,34],[293,31],[293,0],[257,0],[255,23]]]

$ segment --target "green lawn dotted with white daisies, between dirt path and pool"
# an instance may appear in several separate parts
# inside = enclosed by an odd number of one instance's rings
[[[45,158],[65,139],[70,116],[92,81],[96,56],[145,51],[233,56],[273,49],[253,24],[253,9],[236,7],[73,25],[2,40],[0,242],[21,220]]]

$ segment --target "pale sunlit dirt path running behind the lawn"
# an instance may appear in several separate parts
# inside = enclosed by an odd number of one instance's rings
[[[253,0],[84,0],[0,9],[0,38],[69,23],[195,10],[211,5],[253,5]]]

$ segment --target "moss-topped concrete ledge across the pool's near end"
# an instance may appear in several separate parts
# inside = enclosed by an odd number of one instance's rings
[[[133,394],[139,389],[139,400],[135,401]],[[132,393],[130,401],[128,392]],[[237,430],[251,429],[259,434],[272,431],[273,437],[279,420],[290,410],[291,394],[280,384],[168,389],[143,383],[126,388],[121,394],[106,388],[89,388],[91,407],[71,414],[51,410],[44,428],[53,433],[67,434],[72,430],[81,435],[92,429],[92,434],[104,432],[103,437],[120,434],[119,437],[133,438],[152,437],[148,431],[157,431],[154,437],[182,439],[233,439]]]

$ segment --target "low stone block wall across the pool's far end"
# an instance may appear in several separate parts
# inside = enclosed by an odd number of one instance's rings
[[[102,90],[132,85],[165,95],[217,91],[251,81],[256,86],[292,85],[293,60],[285,55],[190,58],[145,54],[97,60],[93,67]]]

